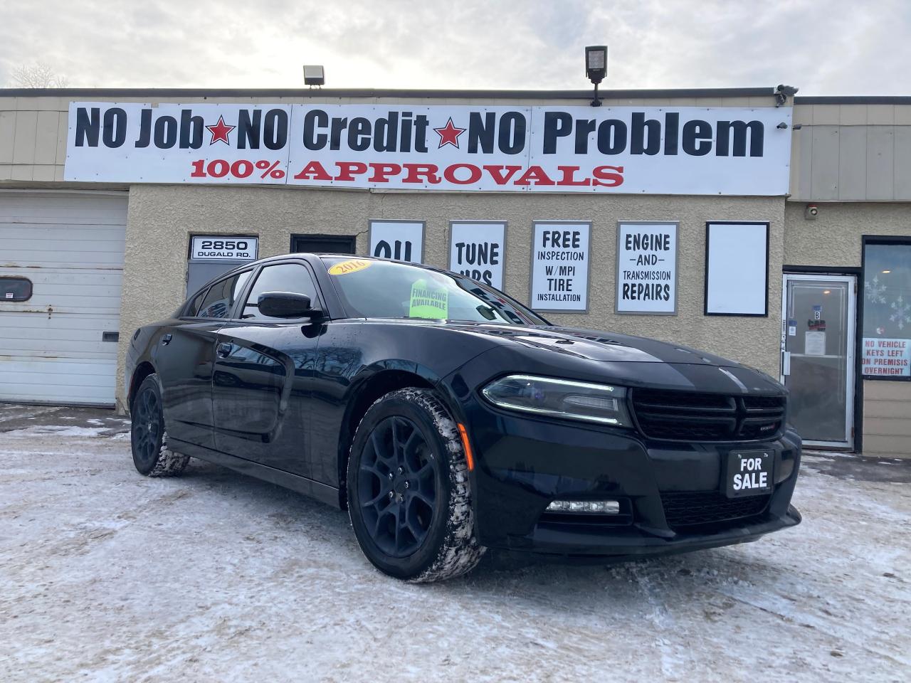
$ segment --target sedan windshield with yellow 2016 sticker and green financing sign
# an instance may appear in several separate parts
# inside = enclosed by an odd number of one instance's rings
[[[345,310],[358,318],[423,318],[547,325],[475,280],[388,260],[323,258]]]

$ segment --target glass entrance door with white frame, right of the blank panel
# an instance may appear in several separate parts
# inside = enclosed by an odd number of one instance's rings
[[[810,445],[854,446],[856,280],[784,276],[782,382],[790,423]]]

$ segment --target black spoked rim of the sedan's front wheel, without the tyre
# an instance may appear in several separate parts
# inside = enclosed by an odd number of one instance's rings
[[[425,542],[439,514],[437,462],[406,417],[387,417],[370,433],[357,473],[358,499],[367,531],[386,555],[410,556]]]

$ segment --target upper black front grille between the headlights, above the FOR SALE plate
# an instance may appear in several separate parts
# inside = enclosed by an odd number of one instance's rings
[[[783,396],[635,389],[632,408],[640,432],[662,441],[762,441],[782,431]]]

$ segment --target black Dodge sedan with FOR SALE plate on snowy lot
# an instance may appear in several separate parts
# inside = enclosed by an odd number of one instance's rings
[[[140,473],[199,457],[347,508],[399,578],[458,576],[486,547],[665,554],[801,519],[778,382],[551,325],[445,270],[260,260],[136,331],[126,372]]]

